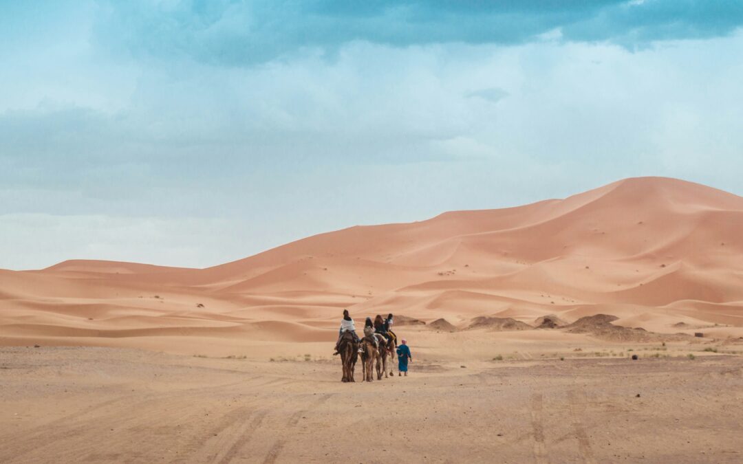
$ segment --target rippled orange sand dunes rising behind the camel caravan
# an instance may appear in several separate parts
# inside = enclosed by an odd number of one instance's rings
[[[522,329],[607,314],[661,333],[717,324],[740,336],[743,198],[632,178],[565,200],[351,227],[207,269],[0,270],[0,344],[328,342],[343,308],[357,327],[377,313]]]

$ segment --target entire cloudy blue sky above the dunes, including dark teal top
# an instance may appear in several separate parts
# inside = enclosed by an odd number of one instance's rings
[[[0,268],[208,267],[624,177],[743,195],[743,1],[0,0]]]

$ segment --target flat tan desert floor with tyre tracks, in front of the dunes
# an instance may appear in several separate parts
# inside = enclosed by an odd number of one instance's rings
[[[1,347],[0,462],[743,460],[743,357],[592,349],[473,362],[423,349],[408,377],[343,384],[331,356]]]

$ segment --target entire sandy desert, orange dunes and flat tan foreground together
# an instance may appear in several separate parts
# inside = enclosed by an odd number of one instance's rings
[[[739,462],[742,232],[742,197],[643,177],[207,269],[0,270],[0,461]],[[409,378],[340,383],[343,308],[397,316]]]

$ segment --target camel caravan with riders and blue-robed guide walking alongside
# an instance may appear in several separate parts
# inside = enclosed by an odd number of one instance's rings
[[[412,360],[410,349],[406,341],[401,340],[402,344],[398,347],[398,337],[392,332],[393,323],[392,314],[386,318],[377,314],[374,321],[366,318],[364,324],[364,337],[359,339],[356,334],[354,320],[348,315],[348,310],[343,310],[343,320],[340,322],[340,333],[335,345],[334,355],[340,354],[340,361],[343,365],[342,382],[356,382],[354,379],[354,370],[356,362],[361,358],[363,380],[372,382],[374,380],[374,369],[377,370],[377,380],[382,379],[382,374],[388,377],[387,360],[392,362],[395,359],[395,353],[398,353],[398,375],[403,373],[407,376],[408,361]],[[394,376],[392,367],[389,370],[389,376]]]

